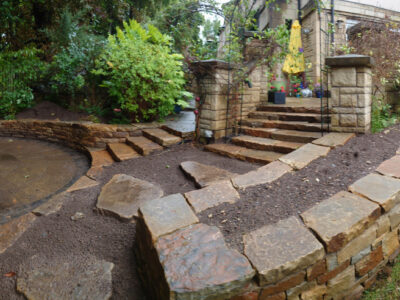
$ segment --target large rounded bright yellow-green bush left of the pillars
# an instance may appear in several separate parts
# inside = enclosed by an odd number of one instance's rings
[[[112,109],[133,121],[163,118],[174,105],[184,105],[182,56],[171,51],[170,37],[131,20],[117,28],[96,62],[94,74],[112,97]]]

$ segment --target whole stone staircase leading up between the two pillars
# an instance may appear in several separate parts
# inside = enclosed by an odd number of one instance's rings
[[[320,105],[317,98],[288,98],[284,105],[262,105],[242,120],[241,135],[229,144],[211,144],[205,149],[249,162],[270,163],[321,137],[329,117],[321,117]]]

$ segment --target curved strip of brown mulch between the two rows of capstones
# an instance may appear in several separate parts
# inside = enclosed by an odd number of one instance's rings
[[[200,221],[218,226],[227,243],[243,251],[243,234],[297,215],[346,190],[394,156],[399,146],[400,125],[382,133],[358,136],[300,171],[240,192],[235,204],[221,204],[202,212]]]

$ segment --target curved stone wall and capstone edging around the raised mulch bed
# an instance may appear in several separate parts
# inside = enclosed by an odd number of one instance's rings
[[[272,182],[353,136],[328,134],[228,183],[239,189]],[[199,223],[190,198],[149,201],[139,210],[135,253],[152,299],[358,299],[400,252],[398,154],[382,163],[380,174],[358,180],[301,219],[246,234],[244,255],[225,245],[218,228]]]

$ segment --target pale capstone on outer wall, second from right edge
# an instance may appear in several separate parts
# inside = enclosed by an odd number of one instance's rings
[[[400,202],[400,180],[369,174],[353,183],[349,190],[378,203],[388,212]]]

